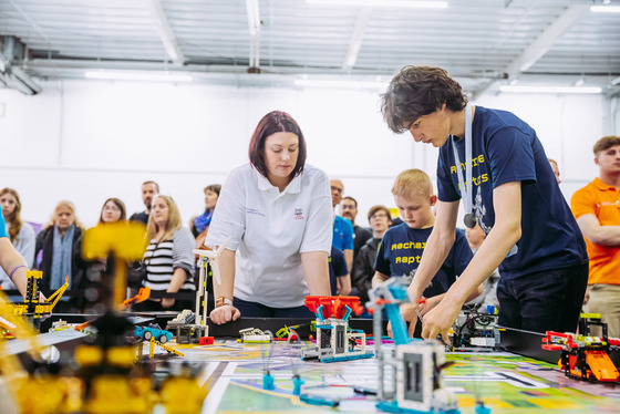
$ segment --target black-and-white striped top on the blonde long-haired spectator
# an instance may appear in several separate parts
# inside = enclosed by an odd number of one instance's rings
[[[155,239],[144,252],[146,263],[145,287],[155,291],[166,291],[176,269],[185,270],[187,278],[179,290],[195,291],[194,286],[194,237],[186,228],[175,231],[172,239],[157,242]]]

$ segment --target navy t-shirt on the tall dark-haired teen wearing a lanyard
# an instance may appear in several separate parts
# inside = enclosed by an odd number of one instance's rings
[[[502,278],[585,263],[583,237],[536,132],[509,112],[476,106],[472,135],[473,213],[485,234],[495,225],[495,187],[521,182],[521,238],[499,266]],[[465,178],[465,139],[456,147]],[[452,138],[440,148],[437,195],[461,199]]]

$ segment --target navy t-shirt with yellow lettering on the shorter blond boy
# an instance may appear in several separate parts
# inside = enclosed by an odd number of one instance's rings
[[[413,276],[412,272],[420,266],[422,252],[432,230],[432,227],[413,229],[406,222],[388,229],[376,251],[374,270],[385,276]],[[465,235],[457,229],[456,239],[447,258],[431,281],[431,286],[422,294],[431,298],[445,293],[456,277],[469,265],[472,256]]]

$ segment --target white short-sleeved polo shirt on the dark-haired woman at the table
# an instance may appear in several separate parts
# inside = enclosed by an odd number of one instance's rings
[[[306,165],[282,193],[249,164],[235,168],[217,200],[205,246],[237,251],[235,297],[272,308],[303,306],[301,255],[331,251],[329,178]]]

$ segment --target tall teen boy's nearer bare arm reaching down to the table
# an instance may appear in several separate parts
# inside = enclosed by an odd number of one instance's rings
[[[451,204],[458,206],[457,203]],[[505,183],[497,186],[493,190],[493,207],[495,210],[495,225],[493,229],[469,262],[469,266],[467,266],[467,269],[450,288],[444,300],[424,317],[422,338],[435,338],[440,333],[443,338],[447,338],[447,331],[456,320],[461,307],[467,297],[502,263],[513,246],[521,238],[520,182]],[[450,211],[453,209],[454,207],[452,206]],[[452,213],[454,214],[455,211]],[[437,211],[437,221],[438,218]],[[435,228],[437,228],[436,224]],[[431,238],[428,238],[424,253],[433,251],[433,246],[430,242]],[[424,259],[423,255],[422,262],[420,263],[421,268]]]

